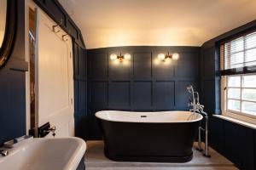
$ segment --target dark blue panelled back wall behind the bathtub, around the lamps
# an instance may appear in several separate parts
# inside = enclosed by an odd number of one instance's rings
[[[88,116],[86,139],[100,139],[96,111],[188,110],[188,84],[198,87],[200,48],[121,47],[88,51]],[[160,53],[178,53],[169,65]],[[110,54],[131,54],[130,61],[114,63]]]

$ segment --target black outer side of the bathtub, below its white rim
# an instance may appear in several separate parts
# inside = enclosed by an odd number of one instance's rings
[[[200,121],[111,122],[97,118],[104,153],[113,161],[186,162]]]

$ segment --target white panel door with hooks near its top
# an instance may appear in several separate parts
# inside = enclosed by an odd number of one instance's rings
[[[38,127],[49,122],[56,137],[74,135],[72,39],[40,9],[38,22]],[[36,66],[37,66],[36,65]]]

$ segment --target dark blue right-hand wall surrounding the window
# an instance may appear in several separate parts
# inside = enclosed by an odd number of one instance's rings
[[[206,110],[220,114],[219,42],[256,29],[256,20],[205,42],[201,47],[201,96]],[[256,130],[210,118],[210,144],[243,170],[256,169]]]

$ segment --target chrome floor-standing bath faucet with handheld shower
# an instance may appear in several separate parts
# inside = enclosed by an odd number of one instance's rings
[[[196,112],[196,113],[200,113],[202,116],[205,117],[206,120],[206,124],[205,124],[205,128],[203,127],[199,127],[198,130],[198,150],[202,151],[202,147],[201,147],[201,131],[205,132],[205,151],[204,151],[204,156],[210,157],[209,154],[209,147],[208,147],[208,122],[209,122],[209,117],[206,111],[204,111],[204,105],[201,105],[199,102],[199,94],[198,92],[194,91],[194,88],[192,85],[189,85],[187,87],[187,90],[189,91],[189,94],[192,94],[192,99],[190,99],[191,101],[189,101],[189,106],[192,107],[192,109],[190,109],[189,111],[192,112]]]

